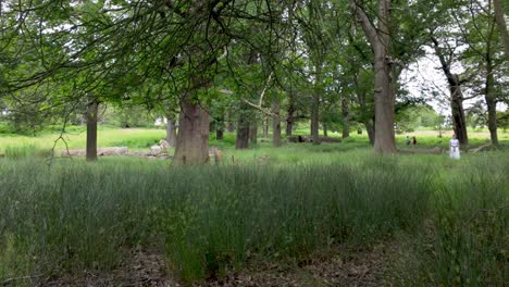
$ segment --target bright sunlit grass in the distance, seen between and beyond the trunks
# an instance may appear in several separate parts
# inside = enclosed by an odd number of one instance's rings
[[[40,155],[49,157],[51,150],[54,147],[55,154],[60,154],[61,150],[66,148],[70,149],[84,149],[86,144],[85,127],[71,126],[66,128],[66,133],[60,137],[60,127],[47,129],[40,133],[38,136],[21,136],[14,134],[0,134],[0,153],[12,157],[23,155]],[[306,135],[309,130],[307,128],[297,128],[297,135]],[[469,139],[471,147],[477,147],[489,142],[489,133],[487,132],[469,132]],[[328,133],[331,137],[340,137],[338,133]],[[444,137],[438,138],[437,132],[433,130],[421,130],[411,134],[397,135],[396,141],[398,148],[406,149],[405,137],[406,136],[418,138],[418,148],[433,148],[439,147],[446,149],[451,136],[451,132],[445,132]],[[509,145],[509,133],[502,133],[499,130],[499,141],[502,145]],[[160,139],[165,137],[164,129],[158,128],[112,128],[107,126],[100,126],[98,132],[98,147],[128,147],[131,151],[148,151],[150,146],[158,144]],[[344,150],[353,148],[365,148],[369,144],[368,136],[357,135],[351,133],[350,138],[344,141],[348,145],[343,145]],[[222,149],[231,150],[235,146],[235,135],[225,134],[223,141],[216,141],[214,136],[210,138],[211,146],[219,146]],[[260,144],[258,148],[269,148],[270,144]],[[334,149],[336,149],[335,147]],[[327,150],[327,148],[324,148]],[[296,152],[296,154],[299,151]]]

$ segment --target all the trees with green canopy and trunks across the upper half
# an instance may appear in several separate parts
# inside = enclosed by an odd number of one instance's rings
[[[390,153],[395,111],[425,101],[401,74],[430,48],[460,141],[463,101],[484,96],[496,145],[496,104],[508,101],[502,10],[499,0],[4,1],[0,105],[38,121],[84,112],[89,160],[100,103],[164,114],[169,134],[178,122],[176,163],[207,161],[211,122],[218,138],[236,122],[246,148],[269,118],[275,146],[282,122],[290,135],[309,118],[314,144],[320,122],[340,122],[344,136],[361,123],[375,152]]]

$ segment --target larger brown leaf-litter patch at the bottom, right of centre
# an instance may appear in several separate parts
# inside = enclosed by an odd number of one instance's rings
[[[269,264],[209,282],[206,286],[386,286],[386,271],[395,248],[393,245],[378,245],[368,251],[316,255],[293,267]]]

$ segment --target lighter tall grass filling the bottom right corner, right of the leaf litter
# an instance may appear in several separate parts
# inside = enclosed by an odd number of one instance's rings
[[[493,153],[443,171],[432,213],[410,238],[401,283],[504,286],[509,282],[509,161]],[[450,167],[450,166],[449,166]]]

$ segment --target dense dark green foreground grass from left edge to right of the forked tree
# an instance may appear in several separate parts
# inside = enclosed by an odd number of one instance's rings
[[[414,228],[426,213],[427,178],[388,160],[399,176],[375,165],[167,170],[107,161],[49,170],[3,160],[1,276],[109,270],[121,247],[154,238],[164,238],[186,280],[250,254],[299,259],[336,244],[364,246]]]

